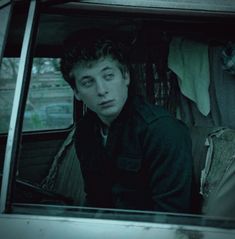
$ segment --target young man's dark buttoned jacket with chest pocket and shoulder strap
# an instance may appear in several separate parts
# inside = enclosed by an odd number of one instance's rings
[[[87,205],[189,212],[192,156],[187,127],[140,98],[125,104],[105,146],[101,124],[88,112],[75,133]]]

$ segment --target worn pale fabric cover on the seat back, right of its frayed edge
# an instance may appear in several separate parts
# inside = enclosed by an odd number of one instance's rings
[[[202,212],[235,218],[235,130],[220,128],[207,138],[207,157],[202,171]]]

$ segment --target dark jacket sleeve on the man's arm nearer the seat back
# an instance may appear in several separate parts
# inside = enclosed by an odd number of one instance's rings
[[[193,160],[188,128],[162,117],[148,125],[143,145],[154,210],[189,213]]]

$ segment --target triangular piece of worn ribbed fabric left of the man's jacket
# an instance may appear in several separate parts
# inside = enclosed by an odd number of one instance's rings
[[[73,205],[81,206],[84,204],[85,192],[80,163],[73,142],[74,132],[75,129],[72,129],[55,155],[41,187],[71,199]]]

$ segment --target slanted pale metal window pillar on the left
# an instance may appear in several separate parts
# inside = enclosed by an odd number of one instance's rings
[[[16,171],[16,158],[19,153],[19,142],[22,130],[22,119],[26,105],[29,88],[30,72],[32,67],[32,52],[35,44],[37,24],[39,20],[38,2],[31,1],[28,19],[25,26],[25,34],[20,56],[19,71],[16,80],[16,88],[8,131],[6,154],[3,166],[1,187],[0,213],[11,210],[11,195],[13,178]]]

